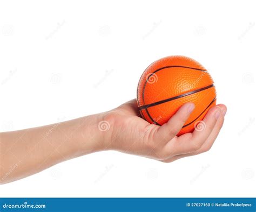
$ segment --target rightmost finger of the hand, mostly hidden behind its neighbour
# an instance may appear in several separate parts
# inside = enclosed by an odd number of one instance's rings
[[[219,132],[220,132],[222,126],[223,126],[224,116],[225,116],[226,111],[227,111],[227,108],[224,104],[219,104],[219,105],[217,105],[217,107],[219,107],[221,109],[221,115],[218,118],[212,132],[210,133],[210,136],[208,136],[208,138],[205,140],[203,145],[198,150],[196,150],[194,152],[186,153],[186,154],[179,154],[179,155],[176,155],[174,157],[170,157],[169,159],[163,160],[164,162],[172,162],[172,161],[180,159],[180,158],[184,158],[184,157],[188,157],[188,156],[194,156],[196,154],[200,154],[200,153],[206,152],[206,151],[211,149],[215,139],[219,135]],[[187,142],[190,142],[190,140],[187,140]]]

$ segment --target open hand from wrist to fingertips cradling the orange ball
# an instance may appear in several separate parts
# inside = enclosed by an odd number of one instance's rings
[[[223,126],[226,106],[218,104],[207,112],[203,119],[204,130],[194,130],[177,137],[192,112],[191,108],[194,108],[193,103],[184,104],[166,124],[158,126],[139,117],[136,100],[126,102],[104,115],[104,122],[108,125],[104,131],[105,149],[163,162],[206,152],[211,149]]]

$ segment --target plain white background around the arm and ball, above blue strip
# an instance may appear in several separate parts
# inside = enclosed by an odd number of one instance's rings
[[[1,1],[0,128],[32,128],[136,97],[167,55],[202,63],[225,103],[211,151],[164,164],[114,151],[0,187],[2,197],[255,197],[254,1]]]

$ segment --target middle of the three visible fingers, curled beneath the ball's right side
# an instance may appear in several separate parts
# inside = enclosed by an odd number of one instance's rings
[[[172,148],[173,154],[175,155],[198,151],[204,144],[205,140],[210,136],[220,115],[221,110],[219,107],[215,106],[211,108],[207,112],[203,121],[199,123],[202,125],[202,128],[199,128],[197,125],[193,133],[186,133],[179,136],[175,143],[167,143],[167,148]]]

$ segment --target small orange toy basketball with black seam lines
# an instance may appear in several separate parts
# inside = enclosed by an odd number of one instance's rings
[[[216,104],[211,75],[186,56],[167,56],[153,62],[140,77],[137,101],[140,115],[149,123],[163,125],[186,102],[196,107],[178,136],[192,132]]]

